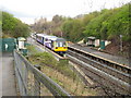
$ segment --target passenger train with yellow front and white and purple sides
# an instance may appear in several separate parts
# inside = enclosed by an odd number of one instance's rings
[[[45,34],[36,34],[36,40],[61,56],[63,56],[68,50],[68,42],[63,38]]]

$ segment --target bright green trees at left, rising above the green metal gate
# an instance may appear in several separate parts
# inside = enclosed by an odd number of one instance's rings
[[[8,12],[2,13],[2,37],[27,37],[29,36],[29,28],[27,24],[22,23],[19,19],[14,17]]]

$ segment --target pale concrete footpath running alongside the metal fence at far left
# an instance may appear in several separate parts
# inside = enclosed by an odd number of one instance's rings
[[[0,93],[2,93],[2,96],[16,96],[12,53],[2,53],[2,71],[0,68],[0,74],[1,73],[2,89],[0,89]]]

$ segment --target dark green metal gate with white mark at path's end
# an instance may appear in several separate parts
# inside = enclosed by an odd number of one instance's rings
[[[0,51],[12,52],[16,48],[15,38],[0,38]]]

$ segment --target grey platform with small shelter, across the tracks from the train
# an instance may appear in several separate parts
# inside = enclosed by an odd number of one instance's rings
[[[114,62],[130,66],[129,65],[129,60],[127,58],[112,56],[112,54],[109,54],[109,53],[105,53],[105,52],[102,52],[102,51],[98,51],[98,50],[91,49],[90,47],[85,47],[85,46],[82,47],[82,46],[79,46],[76,44],[69,44],[69,46],[78,48],[78,49],[86,51],[86,52],[90,52],[90,53],[93,53],[95,56],[98,56],[98,57],[102,57],[102,58],[105,58],[105,59],[108,59],[110,61],[114,61]]]

